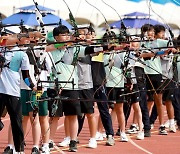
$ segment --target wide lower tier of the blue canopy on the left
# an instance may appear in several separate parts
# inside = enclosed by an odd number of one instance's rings
[[[20,24],[21,20],[24,21],[24,25],[28,26],[39,26],[39,23],[36,20],[36,14],[33,12],[19,12],[15,13],[5,19],[2,20],[3,24]],[[45,17],[43,17],[44,24],[50,23],[59,23],[60,18],[52,13],[47,13]],[[65,20],[61,19],[63,25],[67,26],[69,29],[72,26]]]

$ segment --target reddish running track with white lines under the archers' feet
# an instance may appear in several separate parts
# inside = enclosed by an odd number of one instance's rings
[[[96,111],[96,116],[97,116]],[[132,117],[129,119],[128,126],[131,123]],[[165,113],[165,119],[166,113]],[[0,132],[0,153],[3,152],[4,147],[7,145],[7,132],[8,125],[10,123],[8,115],[2,119],[5,127]],[[98,148],[89,149],[86,148],[89,140],[89,129],[87,120],[85,120],[85,125],[83,131],[79,136],[80,144],[78,144],[78,154],[180,154],[180,131],[176,133],[169,133],[167,136],[158,135],[158,121],[155,124],[155,128],[152,130],[152,137],[145,138],[144,140],[136,140],[135,135],[129,135],[129,142],[123,143],[120,142],[120,138],[115,136],[115,146],[109,147],[105,146],[105,141],[98,142]],[[32,148],[32,137],[31,137],[31,127],[29,125],[28,129],[30,130],[26,137],[26,147],[25,153],[30,154]],[[117,130],[117,123],[114,126],[114,130]],[[55,143],[62,141],[64,138],[64,125],[63,118],[59,120],[58,131],[55,135]],[[67,154],[68,148],[62,148],[55,146],[55,149],[51,151],[52,154]]]

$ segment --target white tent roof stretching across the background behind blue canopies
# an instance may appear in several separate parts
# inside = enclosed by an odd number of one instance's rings
[[[37,1],[37,0],[36,0]],[[119,20],[118,15],[101,0],[88,0],[91,4],[95,5],[101,12],[104,14],[107,20]],[[144,13],[149,13],[152,15],[151,18],[158,20],[160,22],[173,23],[177,24],[180,27],[180,7],[167,3],[166,5],[160,5],[152,3],[153,10],[160,15],[164,21],[160,17],[158,17],[152,10],[149,10],[146,1],[140,3],[134,3],[127,0],[104,0],[106,3],[115,8],[120,15],[127,14],[134,11],[140,11]],[[56,11],[56,14],[61,16],[63,19],[68,19],[69,11],[61,0],[38,0],[39,5],[43,5],[45,7],[49,7]],[[88,5],[85,0],[66,0],[71,9],[73,15],[79,18],[87,18],[94,25],[100,25],[104,22],[104,18],[102,15],[93,7]],[[1,13],[9,16],[13,14],[13,6],[15,8],[32,5],[32,0],[13,0],[13,1],[1,1],[0,10]]]

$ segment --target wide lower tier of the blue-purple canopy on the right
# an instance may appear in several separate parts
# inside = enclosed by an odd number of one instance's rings
[[[156,24],[161,24],[162,23],[154,20],[154,19],[148,19],[148,18],[124,18],[123,22],[125,24],[126,27],[128,28],[141,28],[144,24],[152,24],[152,25],[156,25]],[[116,27],[116,28],[121,28],[121,21],[116,21],[113,22],[112,24],[110,24],[111,27]]]

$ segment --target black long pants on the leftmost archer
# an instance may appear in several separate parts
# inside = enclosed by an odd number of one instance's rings
[[[17,152],[24,151],[24,133],[22,129],[22,106],[19,97],[0,94],[0,117],[7,108],[11,120],[14,146]]]

